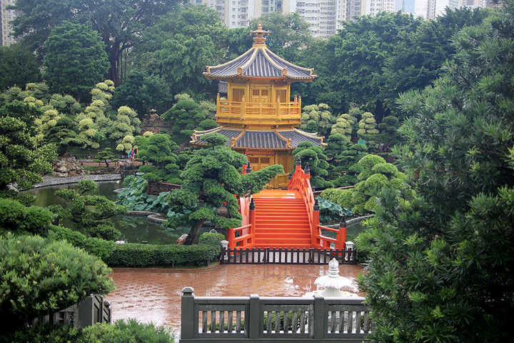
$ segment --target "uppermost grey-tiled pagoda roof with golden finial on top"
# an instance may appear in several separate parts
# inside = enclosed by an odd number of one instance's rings
[[[218,66],[207,66],[203,72],[208,79],[289,79],[291,81],[311,81],[316,78],[314,69],[303,68],[281,59],[266,46],[269,31],[263,31],[259,23],[253,37],[253,46],[241,56]]]

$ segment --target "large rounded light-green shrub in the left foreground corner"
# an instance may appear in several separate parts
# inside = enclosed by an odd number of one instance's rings
[[[9,329],[114,289],[111,269],[100,259],[38,236],[1,236],[0,271],[1,325]]]

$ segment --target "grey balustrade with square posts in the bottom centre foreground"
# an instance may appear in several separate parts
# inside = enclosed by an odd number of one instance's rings
[[[180,342],[362,342],[363,298],[195,297],[182,289]]]

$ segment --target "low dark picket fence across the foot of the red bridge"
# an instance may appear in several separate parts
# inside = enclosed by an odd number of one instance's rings
[[[221,249],[221,264],[356,264],[355,249]]]

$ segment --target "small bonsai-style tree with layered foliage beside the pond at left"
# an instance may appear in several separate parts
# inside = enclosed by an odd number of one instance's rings
[[[81,226],[91,237],[103,239],[118,239],[121,232],[115,229],[106,219],[126,212],[126,208],[116,204],[103,195],[86,194],[96,189],[98,185],[91,180],[81,180],[78,190],[59,189],[58,197],[69,202],[66,208],[60,205],[49,207],[52,212],[62,217],[69,217]]]

